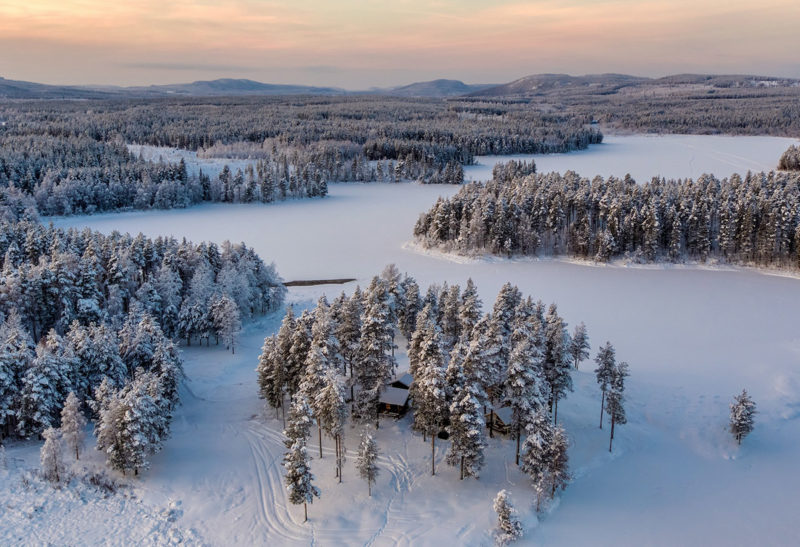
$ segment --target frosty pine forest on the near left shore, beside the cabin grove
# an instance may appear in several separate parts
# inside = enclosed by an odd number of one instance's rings
[[[89,403],[98,448],[123,471],[146,466],[169,433],[176,340],[234,351],[242,320],[279,307],[286,290],[243,244],[28,221],[0,234],[0,436],[57,427],[72,396],[79,413]]]

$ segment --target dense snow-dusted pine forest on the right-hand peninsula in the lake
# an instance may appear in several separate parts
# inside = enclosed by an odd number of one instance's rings
[[[567,172],[467,185],[421,215],[414,233],[465,253],[798,268],[799,213],[800,177],[787,172],[645,184]]]

